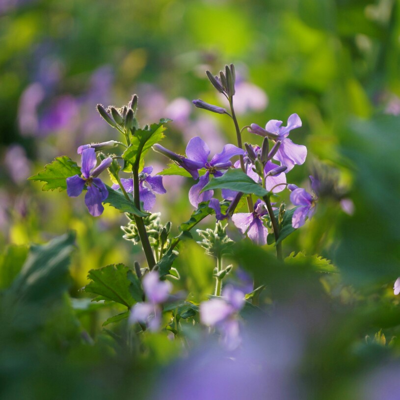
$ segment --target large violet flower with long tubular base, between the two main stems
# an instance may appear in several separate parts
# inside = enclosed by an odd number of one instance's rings
[[[179,156],[159,144],[155,144],[153,149],[169,157],[171,160],[177,161],[194,179],[199,177],[199,169],[206,168],[207,172],[201,176],[199,182],[193,185],[189,190],[189,200],[194,207],[197,207],[202,201],[208,201],[213,197],[213,190],[206,190],[200,193],[203,187],[207,185],[210,174],[215,177],[222,176],[221,170],[233,166],[230,159],[234,156],[244,154],[244,150],[239,147],[233,144],[227,144],[220,153],[215,154],[211,161],[207,161],[210,155],[210,148],[199,136],[192,137],[187,143],[187,157]]]

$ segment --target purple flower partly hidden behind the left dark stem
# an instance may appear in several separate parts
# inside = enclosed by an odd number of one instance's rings
[[[145,167],[139,174],[139,199],[143,202],[143,209],[150,211],[156,203],[156,195],[153,192],[164,194],[167,191],[162,185],[162,177],[150,176],[153,167]],[[133,192],[133,179],[121,179],[122,186],[128,193]],[[149,187],[145,186],[149,185]],[[113,189],[118,189],[119,185],[112,185]]]

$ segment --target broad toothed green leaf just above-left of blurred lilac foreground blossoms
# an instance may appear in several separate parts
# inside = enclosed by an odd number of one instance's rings
[[[112,300],[131,308],[135,299],[131,294],[132,282],[128,279],[131,268],[123,264],[112,264],[99,269],[91,269],[87,277],[91,282],[84,291],[98,296],[94,299]]]

